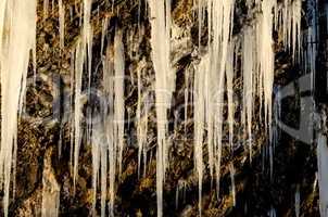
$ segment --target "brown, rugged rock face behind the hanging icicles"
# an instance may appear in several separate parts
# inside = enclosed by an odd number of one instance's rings
[[[9,216],[111,215],[109,210],[111,205],[114,216],[157,215],[159,129],[154,106],[155,72],[150,41],[151,21],[154,17],[150,16],[150,9],[144,0],[89,2],[92,40],[89,43],[88,54],[81,58],[90,59],[90,62],[81,65],[80,113],[87,118],[80,123],[78,176],[74,180],[75,135],[72,129],[74,128],[72,102],[76,97],[74,88],[77,82],[74,74],[74,66],[76,67],[74,50],[83,37],[84,4],[83,1],[76,0],[38,1],[37,79],[35,85],[27,84],[24,114],[18,123],[15,181],[12,180],[11,187],[14,195],[10,200]],[[250,17],[250,11],[257,9],[255,4],[247,4],[247,2],[251,1],[236,0],[232,38],[242,37],[242,27],[252,25],[253,17]],[[278,4],[280,3],[278,1]],[[224,123],[222,158],[218,166],[219,189],[216,188],[217,180],[211,177],[209,165],[211,153],[207,150],[207,140],[202,141],[204,168],[201,204],[199,204],[199,177],[193,161],[194,110],[190,103],[187,106],[185,104],[186,99],[189,102],[193,100],[193,94],[190,92],[193,90],[195,68],[202,61],[201,56],[206,55],[205,48],[209,41],[211,42],[207,25],[199,28],[198,10],[199,5],[193,0],[172,0],[169,10],[172,14],[169,61],[176,81],[171,108],[167,111],[168,124],[165,126],[169,159],[165,179],[163,178],[163,216],[198,216],[199,206],[202,208],[203,216],[213,217],[295,216],[297,213],[300,213],[300,216],[319,216],[316,146],[294,139],[277,126],[274,129],[278,130],[276,135],[279,137],[272,146],[267,126],[263,122],[264,117],[261,117],[263,107],[260,106],[262,99],[258,95],[254,95],[252,101],[254,108],[251,111],[253,118],[249,126],[252,131],[250,161],[248,136],[245,136],[248,131],[242,120],[244,93],[240,69],[241,55],[243,55],[241,50],[236,52],[235,64],[238,69],[231,84],[235,107],[234,140],[229,140],[230,128],[227,123]],[[306,3],[303,3],[304,14],[307,10]],[[254,12],[253,15],[255,16],[256,13]],[[209,14],[204,12],[203,15],[206,24]],[[302,17],[303,23],[307,22],[305,16]],[[94,148],[99,145],[96,154],[100,157],[104,144],[101,142],[101,136],[96,132],[90,133],[92,130],[89,127],[93,126],[97,117],[100,123],[105,122],[101,99],[109,88],[103,85],[105,73],[109,71],[103,62],[108,61],[111,65],[115,59],[114,43],[117,31],[122,34],[124,46],[126,122],[122,171],[119,174],[119,166],[115,165],[116,176],[114,175],[113,178],[111,174],[113,170],[110,168],[111,154],[109,156],[104,154],[104,158],[101,159],[101,164],[105,162],[106,167],[109,166],[106,168],[109,173],[102,174],[103,167],[100,169],[100,165],[94,163]],[[279,29],[273,31],[274,89],[276,89],[299,78],[301,74],[298,71],[302,64],[295,64],[289,52],[285,50],[283,33]],[[90,76],[88,72],[91,72]],[[28,77],[33,77],[31,62]],[[291,126],[299,125],[301,97],[288,98],[280,105],[281,119]],[[227,120],[229,105],[226,91],[223,98],[223,118]],[[115,95],[112,100],[106,102],[104,107],[113,106],[111,103],[114,104]],[[88,123],[88,115],[92,117],[92,125]],[[207,126],[204,128],[205,137],[210,132]],[[139,133],[146,135],[141,138],[142,151],[139,149]],[[90,139],[92,137],[96,139]],[[96,176],[94,165],[98,170]],[[98,178],[96,181],[94,177]],[[103,182],[103,177],[106,182]],[[111,179],[115,183],[112,192]],[[97,192],[94,192],[94,183]],[[102,191],[102,186],[105,186],[108,191]],[[1,190],[0,197],[2,195]],[[110,200],[113,196],[115,200],[112,204]],[[105,210],[102,210],[104,202]],[[0,209],[2,208],[1,204]]]

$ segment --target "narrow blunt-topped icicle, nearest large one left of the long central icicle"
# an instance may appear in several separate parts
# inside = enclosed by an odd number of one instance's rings
[[[124,149],[124,75],[125,75],[125,56],[124,44],[122,41],[122,31],[116,31],[114,42],[114,137],[118,151],[118,171],[122,171],[122,155]]]

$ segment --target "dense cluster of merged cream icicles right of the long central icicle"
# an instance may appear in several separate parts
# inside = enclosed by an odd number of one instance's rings
[[[203,4],[200,2],[199,8]],[[225,76],[229,88],[229,122],[232,137],[232,78],[234,66],[226,63],[234,62],[234,46],[231,46],[231,29],[234,26],[235,1],[207,1],[209,12],[209,48],[207,54],[202,56],[194,75],[194,165],[199,181],[199,212],[202,210],[202,180],[203,180],[203,143],[207,139],[209,166],[212,177],[219,187],[219,167],[222,156],[223,104]],[[199,10],[200,33],[202,27],[203,9]],[[217,91],[218,90],[218,91]],[[207,129],[205,138],[204,129]],[[232,138],[230,138],[232,142]]]

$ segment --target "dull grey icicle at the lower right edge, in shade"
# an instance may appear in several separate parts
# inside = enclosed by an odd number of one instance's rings
[[[323,135],[318,137],[317,144],[317,162],[318,162],[318,183],[320,197],[320,216],[328,215],[328,148],[327,138]]]

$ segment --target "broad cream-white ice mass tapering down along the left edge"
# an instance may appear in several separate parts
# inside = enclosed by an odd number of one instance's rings
[[[4,191],[4,216],[8,216],[13,151],[16,149],[17,114],[21,114],[25,95],[29,52],[35,50],[36,7],[35,0],[0,3],[0,180]],[[8,29],[8,34],[3,29]]]

